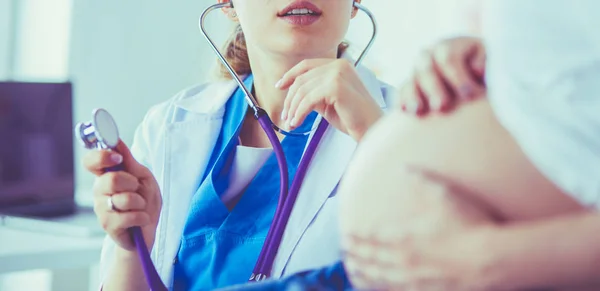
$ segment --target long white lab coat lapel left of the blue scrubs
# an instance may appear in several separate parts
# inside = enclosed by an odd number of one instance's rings
[[[179,249],[189,204],[201,183],[218,139],[225,103],[237,87],[217,83],[196,96],[176,102],[172,122],[165,131],[163,212],[156,246],[164,282],[172,281],[172,260]],[[168,227],[167,227],[168,226]],[[160,265],[158,265],[160,264]]]

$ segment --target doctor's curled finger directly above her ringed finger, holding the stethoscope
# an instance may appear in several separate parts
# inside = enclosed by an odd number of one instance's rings
[[[139,180],[127,172],[108,172],[96,177],[93,191],[95,196],[112,195],[121,192],[136,192]]]

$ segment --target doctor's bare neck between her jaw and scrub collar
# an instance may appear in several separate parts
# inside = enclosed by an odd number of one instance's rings
[[[248,47],[250,67],[254,76],[254,94],[260,107],[269,114],[275,124],[283,125],[280,116],[288,90],[278,89],[275,84],[285,73],[305,59],[336,58],[336,56],[337,49],[320,55],[282,55]]]

